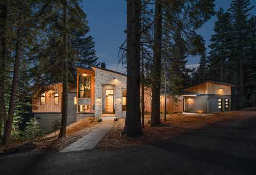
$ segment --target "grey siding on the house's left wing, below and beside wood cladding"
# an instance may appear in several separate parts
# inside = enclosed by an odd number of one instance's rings
[[[68,93],[68,118],[67,124],[72,124],[76,122],[76,105],[74,104],[74,96],[76,93]],[[58,120],[61,122],[61,113],[34,113],[35,119],[40,124],[40,127],[43,131],[50,132],[52,131],[53,123]]]

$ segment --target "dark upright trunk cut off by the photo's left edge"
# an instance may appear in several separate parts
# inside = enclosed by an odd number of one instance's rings
[[[2,31],[1,31],[1,43],[0,43],[0,137],[2,135],[2,122],[6,120],[6,107],[5,107],[5,64],[6,64],[6,33],[7,33],[7,14],[8,14],[8,1],[5,4],[1,4],[2,9],[1,18]],[[5,125],[5,124],[4,124]]]

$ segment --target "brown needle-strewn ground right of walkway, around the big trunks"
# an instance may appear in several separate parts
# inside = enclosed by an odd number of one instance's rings
[[[208,115],[168,114],[166,122],[163,121],[163,116],[161,116],[162,124],[161,126],[157,127],[150,126],[150,115],[146,115],[143,135],[138,138],[129,138],[121,135],[125,124],[125,119],[122,118],[117,122],[114,122],[113,128],[98,143],[97,147],[110,148],[153,143],[159,140],[173,137],[175,135],[180,135],[190,130],[205,127],[209,124],[237,119],[239,117],[252,117],[253,115],[254,114],[250,114],[246,111],[227,111]]]

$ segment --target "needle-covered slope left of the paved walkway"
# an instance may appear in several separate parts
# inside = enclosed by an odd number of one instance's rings
[[[30,140],[30,141],[16,141],[12,142],[8,145],[1,146],[0,145],[0,157],[1,153],[4,152],[4,150],[12,150],[16,147],[23,145],[28,142],[32,142],[36,144],[36,148],[30,151],[25,152],[14,152],[9,154],[8,156],[23,156],[23,155],[30,155],[40,152],[58,152],[61,149],[69,146],[70,144],[74,143],[75,141],[79,140],[83,136],[89,134],[91,131],[97,129],[101,123],[96,121],[94,117],[87,117],[82,120],[79,120],[73,124],[70,124],[67,127],[66,131],[66,137],[58,139],[59,131],[52,132],[49,134],[46,134],[44,137]],[[6,157],[5,154],[3,156]]]

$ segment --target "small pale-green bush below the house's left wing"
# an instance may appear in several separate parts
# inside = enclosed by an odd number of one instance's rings
[[[31,118],[29,122],[26,123],[26,129],[24,131],[25,139],[35,139],[37,137],[42,137],[44,132],[42,132],[39,123],[35,118]]]

